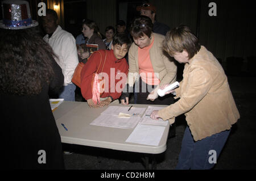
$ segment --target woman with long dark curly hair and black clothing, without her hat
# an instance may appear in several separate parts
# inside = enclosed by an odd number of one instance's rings
[[[64,77],[36,27],[0,28],[1,165],[5,169],[64,169],[60,134],[48,91]]]

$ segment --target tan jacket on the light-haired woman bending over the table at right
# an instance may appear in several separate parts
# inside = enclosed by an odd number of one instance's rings
[[[172,124],[172,118],[185,113],[195,141],[230,129],[240,118],[224,70],[203,46],[185,64],[176,98],[158,115]]]

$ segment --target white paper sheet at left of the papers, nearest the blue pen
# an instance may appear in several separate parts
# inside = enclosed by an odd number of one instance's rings
[[[118,117],[113,115],[100,115],[90,123],[90,125],[98,125],[102,127],[113,127],[129,129],[134,128],[138,124],[139,116]]]

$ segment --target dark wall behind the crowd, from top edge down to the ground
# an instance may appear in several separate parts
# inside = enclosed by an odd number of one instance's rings
[[[135,15],[139,0],[28,0],[32,19],[39,20],[38,3],[59,5],[59,24],[74,37],[81,33],[81,20],[94,20],[102,35],[105,27],[118,19],[127,23]],[[199,37],[200,43],[216,56],[226,73],[238,77],[255,76],[256,11],[254,1],[221,0],[151,0],[156,6],[156,20],[170,28],[185,24]],[[209,16],[210,2],[217,6],[217,16]],[[1,10],[2,11],[2,10]],[[0,13],[2,19],[2,12]],[[181,68],[182,69],[182,68]]]

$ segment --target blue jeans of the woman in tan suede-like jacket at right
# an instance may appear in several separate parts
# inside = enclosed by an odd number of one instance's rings
[[[181,151],[179,154],[179,161],[176,165],[176,170],[188,169],[212,169],[215,165],[213,161],[214,154],[212,150],[216,151],[216,161],[221,153],[223,146],[229,136],[230,130],[208,136],[203,140],[194,141],[191,131],[187,127],[183,136]],[[211,150],[211,151],[210,151]],[[210,159],[209,159],[210,158]],[[215,162],[215,163],[213,163]]]

